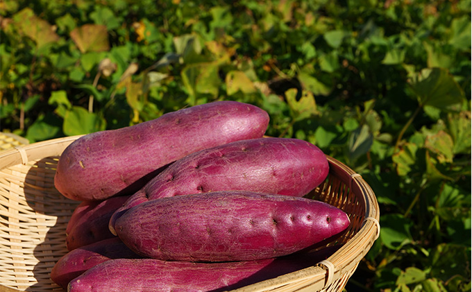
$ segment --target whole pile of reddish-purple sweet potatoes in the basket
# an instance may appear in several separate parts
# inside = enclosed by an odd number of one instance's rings
[[[69,252],[51,271],[68,291],[224,291],[316,264],[350,221],[304,196],[326,180],[317,146],[263,137],[264,110],[218,101],[85,135],[55,185],[81,200]]]

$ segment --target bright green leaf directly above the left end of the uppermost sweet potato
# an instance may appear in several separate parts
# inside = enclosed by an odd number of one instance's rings
[[[78,106],[73,106],[66,112],[62,125],[62,131],[67,136],[89,134],[105,128],[106,121],[103,117]]]

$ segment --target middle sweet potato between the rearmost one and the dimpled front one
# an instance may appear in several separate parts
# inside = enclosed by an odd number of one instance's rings
[[[328,175],[326,155],[301,139],[260,138],[235,141],[192,153],[171,164],[133,194],[110,219],[157,198],[208,191],[257,191],[305,196]]]

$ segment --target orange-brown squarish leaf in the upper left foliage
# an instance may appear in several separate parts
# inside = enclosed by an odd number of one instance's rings
[[[74,28],[70,37],[82,53],[108,51],[108,31],[106,26],[99,24],[84,24]]]

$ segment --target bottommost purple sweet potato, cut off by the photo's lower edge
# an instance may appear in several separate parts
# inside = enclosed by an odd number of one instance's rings
[[[311,254],[224,263],[112,259],[72,280],[68,291],[229,291],[314,266],[338,248],[333,246]]]

